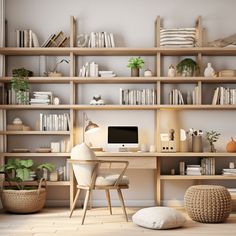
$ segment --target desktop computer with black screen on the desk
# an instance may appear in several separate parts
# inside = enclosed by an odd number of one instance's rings
[[[128,151],[128,148],[137,147],[137,126],[108,126],[108,149],[110,151]]]

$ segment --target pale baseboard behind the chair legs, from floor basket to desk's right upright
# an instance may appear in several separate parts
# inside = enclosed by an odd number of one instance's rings
[[[120,206],[119,200],[112,200],[112,206]],[[78,206],[82,205],[82,201],[78,201]],[[125,201],[127,207],[148,207],[155,206],[154,200],[127,200]],[[47,200],[46,207],[69,207],[69,200]],[[106,200],[93,200],[94,207],[107,206]]]

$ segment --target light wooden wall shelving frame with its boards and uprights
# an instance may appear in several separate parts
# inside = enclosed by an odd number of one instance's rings
[[[76,47],[76,19],[70,17],[70,47],[66,48],[0,48],[0,54],[4,56],[68,56],[70,60],[69,76],[65,77],[29,77],[29,82],[32,84],[68,84],[69,85],[69,102],[68,104],[61,105],[6,105],[1,104],[0,109],[5,111],[16,110],[46,110],[46,111],[67,111],[70,115],[70,130],[69,131],[0,131],[5,139],[11,135],[55,135],[55,136],[69,136],[70,145],[74,146],[75,141],[75,119],[77,111],[83,110],[151,110],[155,113],[155,140],[156,146],[159,148],[159,133],[160,133],[160,112],[163,110],[236,110],[236,105],[211,105],[204,104],[202,87],[204,84],[223,84],[230,83],[236,84],[236,77],[165,77],[162,72],[162,57],[165,56],[195,56],[202,72],[203,56],[236,56],[236,48],[210,48],[203,46],[202,40],[202,22],[201,17],[197,20],[197,30],[199,35],[199,47],[194,48],[166,48],[160,47],[160,28],[161,19],[157,17],[156,21],[156,45],[150,48],[130,48],[130,47],[117,47],[117,48],[78,48]],[[76,68],[78,57],[80,56],[152,56],[155,57],[156,75],[152,77],[114,77],[114,78],[101,78],[101,77],[78,77]],[[202,73],[201,73],[202,74]],[[8,85],[11,77],[0,77],[0,83]],[[88,105],[78,104],[76,101],[76,87],[80,84],[152,84],[157,91],[157,102],[155,105]],[[195,84],[199,86],[199,100],[198,105],[168,105],[164,104],[161,97],[162,86],[165,84]],[[158,149],[159,151],[159,149]],[[109,158],[110,153],[97,153],[98,157],[103,156]],[[113,157],[127,157],[127,154],[119,153],[117,156],[113,153]],[[161,204],[162,180],[231,180],[236,179],[234,176],[222,175],[205,175],[205,176],[180,176],[180,175],[163,175],[161,172],[161,161],[165,157],[186,157],[186,158],[201,158],[201,157],[236,157],[236,153],[129,153],[128,158],[132,157],[156,157],[156,203]],[[0,153],[0,163],[4,162],[8,157],[66,157],[69,158],[69,153],[11,153],[5,150]],[[73,177],[71,177],[73,178]],[[49,186],[69,186],[69,181],[48,182]],[[73,202],[75,196],[75,189],[72,186],[70,190],[70,203]]]

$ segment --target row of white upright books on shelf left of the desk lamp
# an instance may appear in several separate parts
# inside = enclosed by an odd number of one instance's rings
[[[69,131],[70,116],[64,114],[43,114],[39,115],[39,130],[40,131]]]

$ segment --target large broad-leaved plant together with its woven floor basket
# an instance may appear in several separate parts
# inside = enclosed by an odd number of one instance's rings
[[[1,190],[5,210],[14,213],[33,213],[43,208],[46,200],[46,181],[45,188],[42,188],[43,179],[38,187],[26,184],[27,181],[34,180],[35,171],[43,168],[52,171],[54,166],[50,163],[37,166],[33,160],[9,159],[0,168],[5,174],[4,187]]]

